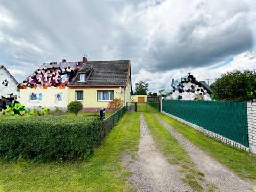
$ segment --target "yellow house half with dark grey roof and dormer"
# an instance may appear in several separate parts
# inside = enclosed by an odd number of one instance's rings
[[[82,63],[68,87],[69,102],[82,102],[83,111],[99,111],[114,98],[131,102],[130,60]]]

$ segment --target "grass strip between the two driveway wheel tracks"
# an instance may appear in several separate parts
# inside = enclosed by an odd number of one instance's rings
[[[203,188],[198,181],[203,179],[204,174],[196,170],[194,162],[190,159],[185,149],[152,113],[143,113],[143,115],[157,149],[162,151],[170,164],[179,165],[178,170],[184,174],[183,182],[188,183],[194,190],[201,191]]]

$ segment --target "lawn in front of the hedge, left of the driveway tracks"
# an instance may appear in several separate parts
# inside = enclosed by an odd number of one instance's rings
[[[130,191],[122,155],[138,150],[139,113],[126,113],[87,162],[0,159],[0,191]]]

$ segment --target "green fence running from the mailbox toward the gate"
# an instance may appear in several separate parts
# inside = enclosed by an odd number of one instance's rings
[[[126,109],[125,106],[110,115],[108,118],[102,121],[102,139],[106,137],[109,131],[116,125],[116,123],[124,115]]]

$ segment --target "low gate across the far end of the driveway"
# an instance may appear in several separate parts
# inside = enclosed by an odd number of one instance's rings
[[[156,112],[159,111],[159,102],[127,102],[126,111]]]

